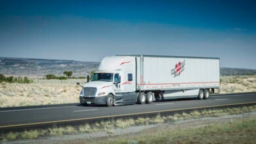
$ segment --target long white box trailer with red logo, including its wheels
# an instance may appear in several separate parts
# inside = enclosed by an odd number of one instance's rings
[[[188,56],[135,57],[138,103],[156,99],[207,99],[219,92],[220,59]]]

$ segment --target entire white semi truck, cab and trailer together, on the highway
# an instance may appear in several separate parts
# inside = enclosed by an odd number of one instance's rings
[[[80,103],[110,107],[159,99],[208,99],[219,92],[219,62],[219,58],[189,56],[109,56],[91,81],[87,76]]]

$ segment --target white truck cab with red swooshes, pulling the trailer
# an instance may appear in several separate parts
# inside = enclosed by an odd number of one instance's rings
[[[83,85],[81,104],[124,105],[137,101],[135,57],[106,57],[94,73],[91,82]]]

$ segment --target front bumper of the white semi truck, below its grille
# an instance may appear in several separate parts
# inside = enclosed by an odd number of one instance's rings
[[[86,104],[87,101],[90,101],[91,103],[95,104],[106,104],[106,96],[98,96],[98,97],[85,97],[85,96],[80,96],[80,103],[81,104]]]

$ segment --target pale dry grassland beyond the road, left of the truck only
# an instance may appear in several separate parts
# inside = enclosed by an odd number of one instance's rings
[[[34,80],[32,84],[0,83],[0,107],[79,103],[80,86],[86,79]]]

